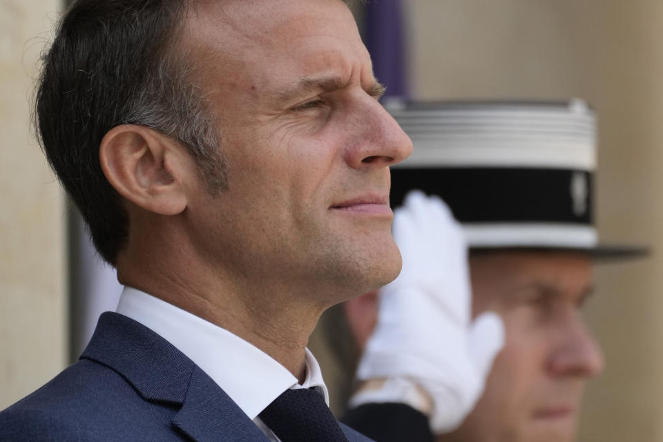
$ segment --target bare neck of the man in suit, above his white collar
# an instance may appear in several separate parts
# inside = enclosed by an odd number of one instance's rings
[[[177,253],[144,253],[149,249],[140,245],[133,249],[117,261],[122,284],[227,329],[269,354],[300,383],[304,380],[305,347],[327,307],[312,304],[310,291],[264,280],[256,284],[258,278],[238,278],[224,269],[209,268],[181,248]]]

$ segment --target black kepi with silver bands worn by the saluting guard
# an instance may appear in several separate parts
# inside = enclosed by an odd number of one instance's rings
[[[414,144],[392,167],[392,207],[421,189],[439,195],[470,249],[644,256],[599,244],[593,219],[595,113],[584,101],[387,102]]]

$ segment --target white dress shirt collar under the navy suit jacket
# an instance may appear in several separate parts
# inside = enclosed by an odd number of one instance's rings
[[[117,313],[148,327],[188,356],[271,441],[280,442],[258,414],[285,390],[313,387],[329,405],[320,365],[309,349],[305,349],[306,377],[298,384],[293,374],[258,347],[144,291],[125,287]]]

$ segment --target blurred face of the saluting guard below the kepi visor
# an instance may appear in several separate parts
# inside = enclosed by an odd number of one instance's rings
[[[474,314],[497,311],[506,344],[486,391],[440,441],[569,442],[586,381],[603,367],[581,307],[592,288],[588,257],[495,252],[470,258]]]

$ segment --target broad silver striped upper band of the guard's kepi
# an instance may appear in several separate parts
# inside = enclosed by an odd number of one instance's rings
[[[509,166],[593,171],[595,114],[570,102],[385,104],[414,144],[397,167]]]

